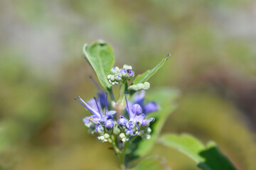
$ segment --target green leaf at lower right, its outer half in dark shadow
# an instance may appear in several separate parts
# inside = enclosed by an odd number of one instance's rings
[[[200,169],[205,170],[234,170],[235,166],[231,164],[218,149],[215,142],[208,142],[203,145],[192,135],[167,134],[161,136],[159,142],[167,147],[174,147],[180,152],[193,159]]]

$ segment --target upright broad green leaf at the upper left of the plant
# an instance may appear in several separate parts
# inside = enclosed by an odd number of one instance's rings
[[[107,75],[111,74],[110,71],[114,66],[114,52],[112,47],[105,42],[95,42],[90,46],[85,44],[82,52],[87,62],[89,62],[97,74],[100,84],[109,90],[112,86],[107,81]]]

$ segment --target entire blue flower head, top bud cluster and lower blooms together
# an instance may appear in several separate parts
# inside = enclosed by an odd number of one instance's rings
[[[112,74],[107,76],[110,84],[119,84],[120,82],[124,84],[127,80],[134,77],[132,67],[126,64],[124,64],[123,69],[118,67],[112,68],[111,72]],[[85,126],[89,128],[88,132],[92,135],[97,134],[97,140],[101,142],[112,143],[116,139],[119,139],[121,142],[127,142],[134,136],[141,136],[142,139],[149,140],[151,137],[149,124],[154,121],[154,118],[146,118],[146,115],[158,111],[158,104],[154,101],[145,103],[144,90],[135,93],[132,101],[128,101],[127,95],[129,94],[124,93],[122,95],[124,98],[119,98],[119,100],[126,103],[124,110],[121,110],[122,113],[117,113],[117,111],[120,112],[120,109],[116,110],[117,103],[122,102],[108,102],[107,92],[102,91],[93,79],[92,81],[100,91],[97,93],[98,98],[92,98],[87,102],[79,96],[75,98],[78,103],[92,113],[92,115],[83,118]],[[148,86],[147,82],[144,84]],[[120,93],[122,92],[120,91]]]

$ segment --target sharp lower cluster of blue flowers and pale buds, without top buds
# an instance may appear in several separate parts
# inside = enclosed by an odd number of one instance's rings
[[[86,103],[80,97],[75,98],[78,103],[92,113],[92,115],[83,118],[83,122],[85,126],[89,128],[88,132],[90,134],[99,135],[97,140],[110,142],[111,135],[119,136],[122,142],[127,142],[130,137],[135,135],[142,136],[144,139],[150,139],[151,129],[149,128],[149,123],[153,121],[154,118],[146,119],[142,111],[150,110],[151,104],[147,103],[146,106],[142,108],[138,103],[132,104],[131,101],[127,101],[126,95],[125,98],[129,118],[124,118],[124,115],[120,115],[118,119],[114,118],[114,114],[117,113],[117,111],[107,111],[107,93],[105,111],[102,111],[99,98],[94,98],[94,105]],[[157,109],[158,108],[155,108],[154,111]]]

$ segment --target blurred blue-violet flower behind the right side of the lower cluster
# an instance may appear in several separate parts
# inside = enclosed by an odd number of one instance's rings
[[[134,94],[134,101],[129,101],[128,105],[129,107],[132,107],[135,103],[139,104],[139,106],[142,107],[142,112],[146,115],[151,112],[159,111],[159,105],[154,101],[149,101],[149,103],[146,103],[144,105],[144,96],[146,94],[146,91],[139,91],[136,94]]]

